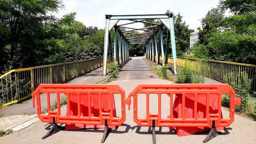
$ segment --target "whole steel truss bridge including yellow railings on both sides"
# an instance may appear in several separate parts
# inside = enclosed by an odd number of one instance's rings
[[[156,19],[157,23],[149,22],[150,19]],[[140,28],[135,28],[133,25],[137,23],[148,24],[149,26],[143,27],[142,25]],[[164,27],[167,29],[166,48],[164,48]],[[114,29],[114,41],[111,40],[111,29]],[[170,43],[172,57],[168,57]],[[176,56],[172,13],[106,15],[103,57],[11,70],[0,76],[0,105],[7,106],[30,98],[31,93],[41,83],[65,83],[102,66],[102,75],[106,75],[107,60],[118,64],[126,63],[129,60],[129,46],[131,44],[145,44],[146,59],[157,64],[168,63],[172,65],[174,75],[177,74],[177,67],[183,67],[185,61],[190,62],[195,68],[198,62],[202,61]],[[236,77],[226,81],[237,84],[242,81],[241,72],[247,72],[248,76],[253,79],[251,90],[256,91],[256,65],[203,60],[201,68],[206,77],[220,82],[225,81],[225,75],[232,73]]]

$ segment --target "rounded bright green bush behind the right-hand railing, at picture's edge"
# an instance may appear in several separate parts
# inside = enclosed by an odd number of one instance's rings
[[[216,32],[209,38],[213,59],[238,63],[256,62],[256,36],[234,34],[230,30]]]

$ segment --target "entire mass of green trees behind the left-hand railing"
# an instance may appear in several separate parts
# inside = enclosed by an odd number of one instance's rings
[[[0,1],[0,72],[102,56],[104,30],[84,26],[75,12],[50,15],[62,8],[61,0]]]

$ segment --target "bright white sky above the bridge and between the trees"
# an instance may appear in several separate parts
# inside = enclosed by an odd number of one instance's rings
[[[105,27],[105,15],[165,14],[166,10],[180,14],[189,28],[201,27],[200,19],[211,8],[216,8],[219,0],[63,0],[65,9],[54,15],[76,12],[76,20],[86,27]]]

